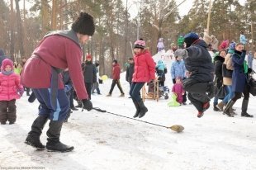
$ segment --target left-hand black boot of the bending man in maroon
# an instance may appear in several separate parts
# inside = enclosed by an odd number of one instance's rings
[[[33,124],[31,125],[31,131],[26,137],[25,144],[31,145],[36,149],[45,149],[45,145],[40,142],[40,135],[42,134],[42,130],[47,120],[48,117],[45,116],[38,116],[36,120],[34,120]]]

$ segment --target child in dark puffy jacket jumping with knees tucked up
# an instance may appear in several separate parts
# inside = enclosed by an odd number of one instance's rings
[[[200,118],[210,107],[211,97],[214,96],[214,65],[204,40],[193,32],[184,38],[186,49],[183,58],[188,78],[183,81],[183,88],[188,92],[187,97],[197,108],[197,117]]]

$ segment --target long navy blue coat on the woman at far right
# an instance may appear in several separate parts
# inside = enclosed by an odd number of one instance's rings
[[[233,74],[232,74],[232,91],[244,92],[244,86],[246,83],[246,74],[244,73],[244,58],[246,51],[239,52],[235,50],[232,55],[233,62]]]

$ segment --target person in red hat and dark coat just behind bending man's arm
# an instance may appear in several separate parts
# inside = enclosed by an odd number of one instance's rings
[[[83,77],[88,97],[91,99],[92,84],[97,82],[97,70],[95,64],[92,64],[92,56],[86,56],[85,64],[83,64]]]

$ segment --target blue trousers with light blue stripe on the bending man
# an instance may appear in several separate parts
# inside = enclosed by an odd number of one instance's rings
[[[62,121],[69,112],[69,99],[64,89],[58,89],[57,107],[53,108],[50,102],[50,90],[48,88],[34,88],[36,98],[40,102],[39,115],[49,117],[50,120]]]

